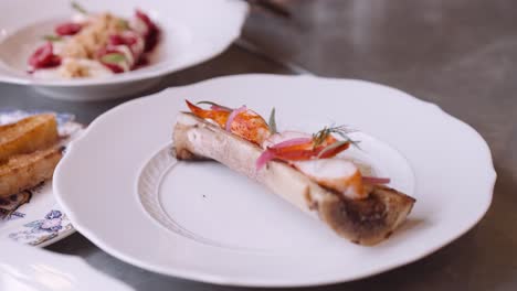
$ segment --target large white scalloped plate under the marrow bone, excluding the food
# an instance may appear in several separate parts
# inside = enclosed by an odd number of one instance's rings
[[[416,198],[374,247],[354,245],[214,162],[176,162],[183,100],[276,108],[281,129],[360,130],[359,160]],[[300,287],[372,276],[418,260],[473,227],[495,182],[481,136],[437,106],[361,80],[242,75],[170,88],[97,118],[54,176],[74,226],[110,255],[151,271],[232,285]]]

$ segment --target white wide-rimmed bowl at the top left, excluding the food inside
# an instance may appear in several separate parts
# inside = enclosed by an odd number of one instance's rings
[[[81,2],[81,1],[80,1]],[[27,73],[27,61],[42,35],[74,12],[68,0],[0,1],[0,82],[34,87],[67,100],[101,100],[135,95],[166,74],[199,64],[223,52],[241,33],[249,7],[241,0],[127,0],[81,2],[88,11],[131,17],[148,12],[162,37],[143,68],[107,78],[38,79]],[[44,9],[39,9],[44,8]]]

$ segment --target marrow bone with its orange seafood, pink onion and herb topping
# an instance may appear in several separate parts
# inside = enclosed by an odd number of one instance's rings
[[[346,127],[312,134],[277,132],[274,110],[266,122],[245,106],[198,105],[187,101],[190,112],[177,117],[172,140],[178,160],[215,160],[359,245],[387,239],[413,207],[414,198],[386,185],[389,179],[366,176],[339,157],[357,147]]]

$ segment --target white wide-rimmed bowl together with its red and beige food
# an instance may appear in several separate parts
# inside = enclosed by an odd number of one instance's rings
[[[2,1],[0,82],[70,100],[134,95],[224,51],[247,9],[240,0]]]

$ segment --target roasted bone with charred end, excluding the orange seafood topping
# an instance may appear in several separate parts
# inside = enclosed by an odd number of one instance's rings
[[[262,152],[257,146],[191,114],[179,114],[172,140],[178,160],[213,159],[319,217],[356,244],[371,246],[388,238],[405,220],[415,202],[386,186],[374,186],[366,200],[344,198],[282,162],[271,161],[257,172],[255,161]]]

